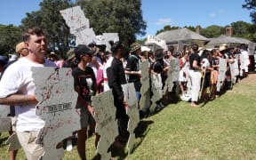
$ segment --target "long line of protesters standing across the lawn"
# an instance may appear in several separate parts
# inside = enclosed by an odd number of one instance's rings
[[[171,45],[168,50],[141,51],[140,44],[134,43],[131,46],[127,46],[122,42],[111,41],[109,42],[111,49],[106,51],[106,46],[92,42],[88,45],[77,45],[76,48],[67,52],[64,60],[59,60],[55,52],[47,54],[44,32],[40,28],[28,29],[23,39],[24,42],[16,46],[16,52],[20,55],[19,60],[8,62],[6,57],[0,56],[2,78],[0,82],[0,104],[12,106],[11,116],[13,117],[15,116],[13,113],[15,106],[18,124],[16,132],[28,159],[39,158],[44,152],[44,148],[36,144],[36,140],[31,140],[36,138],[36,134],[44,124],[36,116],[37,100],[34,90],[35,84],[31,80],[32,74],[29,70],[31,67],[72,68],[72,76],[75,82],[74,88],[78,93],[76,108],[81,108],[82,128],[74,132],[74,135],[77,136],[77,152],[81,159],[86,159],[85,141],[87,132],[93,132],[95,128],[92,96],[112,89],[119,129],[119,136],[116,137],[113,143],[116,148],[124,148],[129,137],[129,132],[127,132],[129,117],[125,113],[127,103],[124,100],[122,84],[134,84],[138,108],[140,109],[140,119],[154,114],[154,112],[149,111],[149,106],[152,104],[140,107],[139,103],[142,85],[140,78],[141,74],[143,74],[140,67],[143,61],[148,60],[149,62],[148,73],[150,73],[150,77],[154,75],[161,76],[162,90],[164,89],[164,84],[166,84],[166,79],[168,79],[171,61],[179,60],[180,62],[178,81],[173,82],[174,87],[171,92],[164,92],[163,98],[153,104],[156,105],[156,109],[164,108],[174,99],[189,101],[191,107],[199,108],[200,103],[214,100],[220,96],[220,91],[217,90],[220,59],[226,59],[228,63],[225,82],[221,84],[221,91],[231,90],[239,79],[246,77],[248,74],[248,52],[244,44],[236,47],[225,46],[224,49],[212,48],[204,50],[199,50],[197,44],[192,44],[191,46],[185,45],[181,51],[177,51]],[[240,59],[241,57],[243,59]],[[229,64],[234,64],[235,61],[238,64],[239,74],[236,75],[236,80],[233,81]],[[20,76],[20,74],[24,76]],[[152,83],[154,82],[150,84]],[[154,92],[151,91],[150,97],[153,94]],[[20,95],[23,96],[23,100],[20,100]],[[23,106],[27,106],[27,108],[24,110]],[[28,115],[22,115],[23,112],[28,112]],[[30,122],[24,121],[24,117],[31,118]],[[34,122],[33,126],[31,126],[31,121]],[[96,147],[100,136],[96,134],[95,137]],[[67,140],[67,149],[71,150],[71,135]],[[68,148],[70,145],[71,148]],[[11,157],[15,159],[16,155],[17,150],[10,152],[10,159]]]

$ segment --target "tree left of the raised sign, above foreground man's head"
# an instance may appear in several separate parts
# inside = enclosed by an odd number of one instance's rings
[[[44,0],[40,3],[41,8],[38,12],[27,13],[27,17],[21,21],[22,28],[43,28],[48,47],[63,58],[74,36],[69,34],[69,28],[61,17],[60,10],[73,5],[70,0]]]

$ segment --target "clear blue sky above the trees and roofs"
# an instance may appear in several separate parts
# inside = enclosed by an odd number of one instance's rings
[[[2,0],[0,24],[18,26],[26,12],[38,11],[42,0]],[[147,22],[146,36],[156,35],[165,25],[206,28],[225,27],[243,20],[252,23],[250,11],[242,8],[245,0],[141,0],[143,20]]]

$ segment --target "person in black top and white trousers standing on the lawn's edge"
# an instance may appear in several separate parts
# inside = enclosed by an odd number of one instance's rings
[[[192,53],[189,56],[189,79],[191,81],[191,106],[197,108],[197,100],[200,91],[201,84],[201,67],[200,67],[200,56],[198,55],[198,45],[192,45]]]

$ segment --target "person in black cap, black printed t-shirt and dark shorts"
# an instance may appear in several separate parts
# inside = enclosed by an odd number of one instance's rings
[[[95,120],[93,108],[91,106],[91,98],[97,92],[96,78],[92,68],[87,65],[92,61],[94,51],[92,51],[85,44],[79,44],[75,50],[76,60],[79,61],[76,68],[72,69],[72,76],[74,77],[75,90],[78,93],[76,108],[80,108],[80,123],[81,130],[77,131],[77,151],[82,160],[86,159],[85,155],[85,141],[87,140],[87,127],[95,127]],[[96,135],[95,146],[100,137]]]

